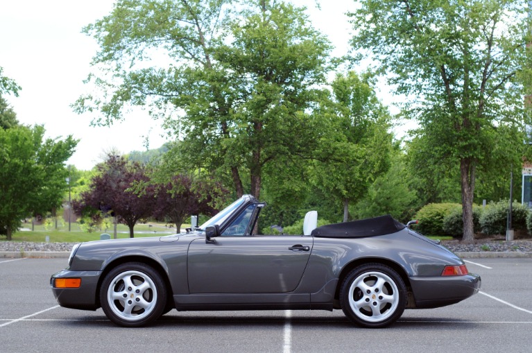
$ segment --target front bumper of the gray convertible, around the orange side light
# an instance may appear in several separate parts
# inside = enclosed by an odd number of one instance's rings
[[[100,307],[98,300],[98,280],[101,271],[62,270],[50,278],[53,295],[61,307],[81,310],[96,310]],[[55,288],[57,278],[80,278],[79,288]]]

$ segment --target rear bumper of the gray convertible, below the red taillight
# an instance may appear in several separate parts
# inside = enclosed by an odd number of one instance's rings
[[[478,293],[481,278],[474,273],[465,276],[411,277],[410,284],[416,308],[436,308],[461,302]]]

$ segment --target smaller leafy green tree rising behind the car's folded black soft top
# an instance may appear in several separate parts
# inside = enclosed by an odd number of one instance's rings
[[[372,182],[390,164],[390,115],[378,101],[368,76],[350,71],[332,83],[333,98],[323,114],[329,132],[320,139],[322,158],[312,166],[314,184],[343,203],[343,221],[349,203],[366,195]]]

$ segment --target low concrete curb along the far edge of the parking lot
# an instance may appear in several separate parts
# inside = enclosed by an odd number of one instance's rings
[[[458,257],[466,259],[520,259],[532,258],[532,252],[518,251],[471,251],[471,252],[454,252]],[[30,257],[33,259],[68,259],[69,251],[0,251],[1,258],[16,259],[21,257]]]

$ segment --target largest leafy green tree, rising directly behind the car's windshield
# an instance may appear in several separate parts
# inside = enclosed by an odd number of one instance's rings
[[[231,10],[232,2],[118,1],[85,28],[100,45],[94,67],[108,70],[89,80],[104,94],[81,97],[75,109],[99,110],[95,123],[121,119],[128,105],[173,110],[163,124],[182,139],[182,168],[216,173],[237,196],[258,198],[268,164],[311,153],[318,124],[308,111],[330,45],[303,9],[255,0]],[[153,53],[168,64],[142,62]]]

